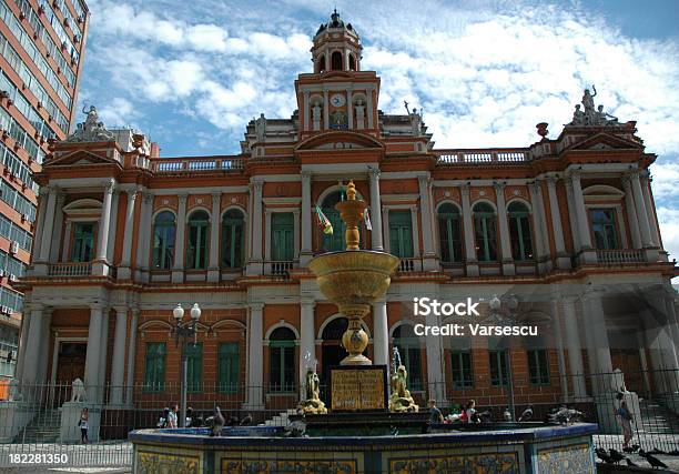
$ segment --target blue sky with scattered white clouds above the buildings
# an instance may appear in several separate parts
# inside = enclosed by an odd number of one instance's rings
[[[90,0],[80,102],[164,157],[237,153],[247,121],[291,115],[311,38],[336,6],[382,78],[379,108],[424,108],[437,148],[550,138],[582,89],[649,152],[666,249],[679,255],[679,1]]]

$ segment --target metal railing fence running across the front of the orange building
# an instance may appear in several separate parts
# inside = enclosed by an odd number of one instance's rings
[[[622,447],[620,420],[616,410],[622,396],[634,416],[632,441],[646,451],[679,450],[679,371],[626,373],[627,389],[617,373],[587,376],[560,376],[547,384],[531,384],[517,377],[499,377],[497,385],[472,383],[424,384],[413,396],[426,407],[436,399],[444,415],[459,413],[469,401],[493,421],[503,421],[509,409],[515,420],[529,406],[533,421],[547,420],[554,407],[566,403],[582,412],[582,421],[599,424],[595,444],[599,447]],[[163,409],[179,403],[179,384],[87,387],[82,402],[72,402],[73,386],[68,384],[17,384],[4,390],[0,401],[0,468],[13,465],[18,455],[57,455],[74,466],[121,466],[131,464],[132,448],[126,442],[132,430],[158,426]],[[85,395],[85,396],[87,396]],[[0,395],[2,396],[2,395]],[[330,406],[330,393],[321,386],[321,396]],[[285,424],[301,399],[300,387],[189,386],[188,406],[193,418],[212,415],[220,406],[227,421],[240,424]],[[122,403],[111,403],[112,400]],[[89,409],[89,443],[81,441],[78,425],[83,407]],[[13,457],[12,457],[13,456]],[[47,460],[47,457],[43,457]]]

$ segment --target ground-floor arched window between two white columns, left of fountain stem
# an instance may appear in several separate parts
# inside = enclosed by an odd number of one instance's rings
[[[268,336],[270,392],[295,391],[295,333],[277,327]]]

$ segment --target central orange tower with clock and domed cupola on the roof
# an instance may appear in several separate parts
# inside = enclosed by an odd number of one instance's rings
[[[300,139],[337,130],[377,135],[379,78],[361,71],[362,51],[356,29],[335,10],[314,36],[314,72],[295,81]]]

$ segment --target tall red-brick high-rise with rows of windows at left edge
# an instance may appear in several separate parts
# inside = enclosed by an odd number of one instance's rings
[[[82,0],[0,1],[0,377],[17,363],[33,250],[38,185],[48,140],[63,140],[75,102],[88,31]]]

